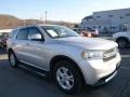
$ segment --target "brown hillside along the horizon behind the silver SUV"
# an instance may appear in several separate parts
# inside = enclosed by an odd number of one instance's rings
[[[39,19],[21,19],[12,15],[0,14],[0,29],[9,29],[24,25],[34,25],[34,24],[43,24],[43,23],[44,22]],[[52,22],[52,20],[48,20],[47,23],[53,25],[63,25],[67,27],[72,27],[73,25],[75,25],[66,22]]]

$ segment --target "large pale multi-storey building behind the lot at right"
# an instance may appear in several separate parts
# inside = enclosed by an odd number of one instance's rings
[[[80,24],[82,29],[99,29],[101,32],[130,30],[130,9],[94,12]]]

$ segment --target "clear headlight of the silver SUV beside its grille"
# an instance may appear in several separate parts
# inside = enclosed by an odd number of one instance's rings
[[[102,59],[104,56],[104,51],[94,51],[94,50],[87,50],[81,54],[83,59]]]

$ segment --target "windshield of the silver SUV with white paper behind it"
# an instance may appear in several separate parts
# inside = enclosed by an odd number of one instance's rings
[[[42,26],[43,30],[51,38],[79,37],[79,34],[67,27],[62,26]]]

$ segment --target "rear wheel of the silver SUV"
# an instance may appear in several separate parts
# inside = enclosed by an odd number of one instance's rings
[[[17,60],[14,52],[9,53],[9,61],[10,61],[11,67],[13,67],[13,68],[17,67],[18,60]]]

